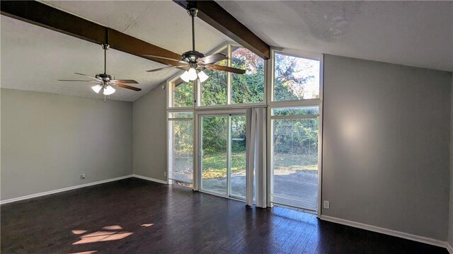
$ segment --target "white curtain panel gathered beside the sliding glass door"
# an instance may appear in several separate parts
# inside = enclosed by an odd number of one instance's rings
[[[246,204],[253,204],[253,186],[256,187],[256,206],[267,207],[266,170],[266,108],[247,109],[246,128]]]

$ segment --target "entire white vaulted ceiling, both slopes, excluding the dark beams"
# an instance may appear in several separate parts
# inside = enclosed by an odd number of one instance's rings
[[[271,46],[453,71],[452,1],[218,1]],[[172,1],[45,1],[173,52],[190,50],[190,17]],[[200,19],[197,50],[231,41]],[[134,101],[176,71],[108,50],[108,73],[136,79],[141,92],[117,89],[114,100]],[[100,45],[1,16],[1,87],[100,98],[74,72],[103,71]]]

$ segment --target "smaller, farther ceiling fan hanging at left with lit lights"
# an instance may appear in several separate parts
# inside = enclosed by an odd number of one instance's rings
[[[105,101],[105,96],[110,96],[110,94],[115,93],[115,88],[113,88],[113,86],[117,86],[120,88],[126,88],[126,89],[130,89],[133,91],[142,91],[141,88],[126,85],[126,83],[138,83],[137,81],[134,81],[133,79],[115,79],[114,76],[111,76],[110,74],[106,73],[107,50],[109,47],[110,46],[108,45],[108,43],[102,44],[102,48],[104,49],[104,73],[103,74],[96,74],[96,76],[92,77],[92,76],[88,76],[88,75],[76,72],[75,74],[85,76],[91,80],[59,79],[58,81],[71,81],[71,82],[76,81],[76,82],[98,83],[95,86],[91,86],[91,88],[96,93],[99,93],[101,90],[103,90],[104,101]]]

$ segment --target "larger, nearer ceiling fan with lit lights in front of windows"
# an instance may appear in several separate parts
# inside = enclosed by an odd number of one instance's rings
[[[217,54],[210,54],[206,56],[201,52],[197,52],[195,50],[195,25],[194,25],[194,18],[197,16],[198,9],[197,8],[188,8],[187,12],[192,17],[192,50],[185,52],[181,55],[181,59],[172,59],[168,57],[160,57],[151,54],[145,54],[144,57],[152,58],[160,58],[160,59],[167,59],[171,61],[175,61],[174,66],[169,67],[162,67],[159,69],[151,69],[148,72],[152,71],[161,71],[164,69],[183,69],[185,72],[180,76],[181,79],[185,82],[193,81],[195,79],[200,79],[200,82],[205,81],[209,77],[203,70],[205,69],[213,69],[217,71],[228,71],[233,72],[236,74],[244,74],[246,70],[243,69],[236,69],[231,67],[224,67],[221,65],[215,64],[216,62],[222,61],[224,59],[228,59],[225,54],[217,53]]]

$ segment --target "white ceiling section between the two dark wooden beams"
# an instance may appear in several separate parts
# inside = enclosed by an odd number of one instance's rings
[[[192,49],[190,16],[173,1],[43,1],[63,11],[182,54]],[[196,49],[209,52],[230,40],[195,20]]]

